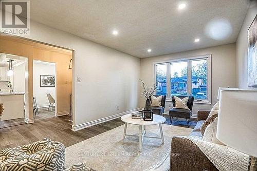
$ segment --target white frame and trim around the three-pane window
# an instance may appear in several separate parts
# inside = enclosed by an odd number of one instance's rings
[[[153,83],[156,83],[156,65],[160,64],[170,64],[172,62],[183,62],[183,61],[188,61],[188,68],[191,68],[191,62],[190,61],[195,61],[195,60],[200,60],[200,59],[207,59],[207,92],[208,92],[208,97],[207,100],[195,100],[194,103],[197,104],[211,104],[212,101],[212,60],[211,60],[211,54],[206,54],[206,55],[199,55],[199,56],[191,56],[188,58],[181,58],[181,59],[172,59],[172,60],[167,60],[167,61],[160,61],[160,62],[153,62]],[[188,82],[191,82],[192,80],[192,69],[188,69]],[[172,101],[170,97],[170,65],[167,65],[167,101]],[[192,85],[188,84],[188,94],[192,94]],[[155,91],[156,93],[156,91]]]

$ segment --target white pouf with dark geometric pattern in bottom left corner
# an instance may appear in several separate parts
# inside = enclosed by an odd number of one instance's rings
[[[0,151],[0,170],[63,170],[65,147],[44,138],[41,141]]]

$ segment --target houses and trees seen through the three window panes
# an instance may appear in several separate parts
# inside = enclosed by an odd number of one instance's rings
[[[188,93],[188,62],[170,64],[171,96],[184,96]],[[192,96],[207,99],[207,60],[192,61]],[[167,64],[156,66],[157,94],[167,94]]]

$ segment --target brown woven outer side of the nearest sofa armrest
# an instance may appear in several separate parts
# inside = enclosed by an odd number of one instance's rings
[[[218,171],[193,142],[176,136],[171,142],[170,170]]]

